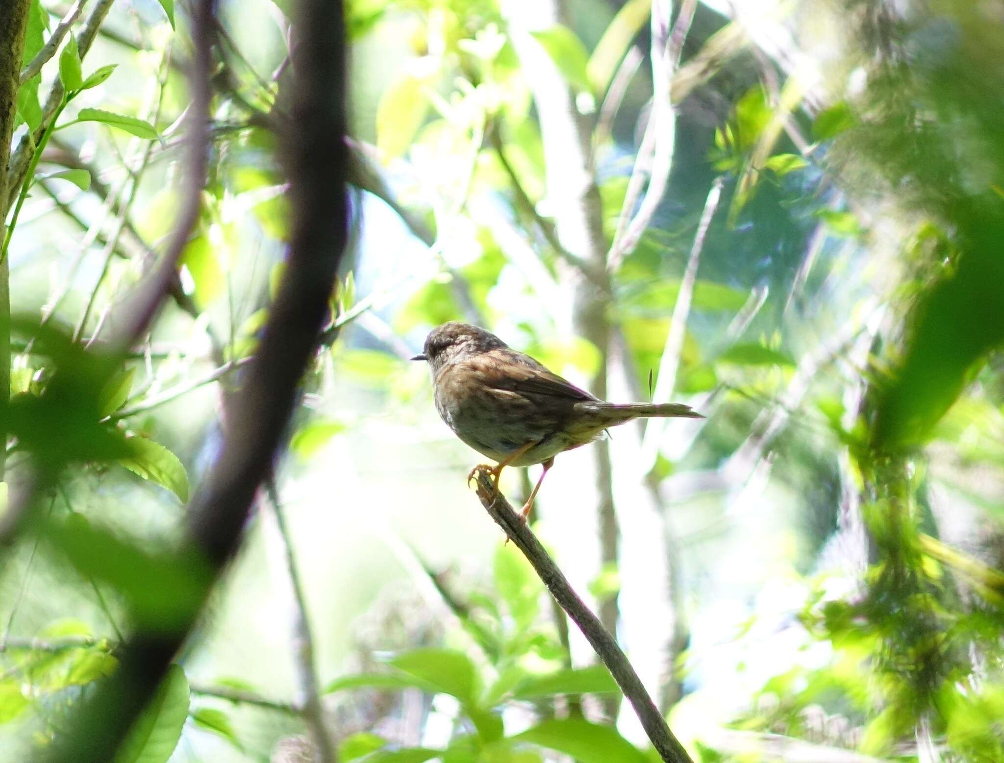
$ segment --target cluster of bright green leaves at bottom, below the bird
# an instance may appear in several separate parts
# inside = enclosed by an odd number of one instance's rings
[[[325,690],[418,689],[451,697],[457,715],[449,745],[395,747],[389,739],[361,732],[342,741],[341,758],[365,763],[433,758],[449,763],[534,763],[541,760],[535,749],[545,748],[583,763],[652,759],[613,728],[582,717],[583,695],[616,694],[616,684],[601,665],[565,667],[567,651],[557,641],[554,625],[542,623],[543,584],[511,546],[500,546],[495,554],[493,590],[492,595],[471,594],[463,606],[451,597],[467,634],[466,651],[412,650],[389,658],[386,672],[344,676]],[[475,652],[478,658],[472,659]],[[509,712],[520,709],[523,712],[515,716]],[[519,716],[528,728],[513,733],[507,727]]]

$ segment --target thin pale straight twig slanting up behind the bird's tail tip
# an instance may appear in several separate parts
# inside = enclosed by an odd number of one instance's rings
[[[701,252],[704,250],[704,242],[708,237],[711,220],[715,216],[718,202],[722,198],[723,184],[722,178],[716,178],[712,184],[711,191],[708,192],[708,199],[704,204],[704,211],[701,213],[701,221],[697,226],[697,233],[694,235],[694,245],[687,258],[684,277],[680,281],[677,302],[673,306],[673,317],[670,319],[670,331],[666,336],[666,347],[659,362],[659,379],[656,382],[656,390],[653,394],[655,401],[669,401],[673,397],[673,389],[677,383],[677,370],[680,366],[680,356],[684,348],[684,337],[687,334],[687,318],[690,316],[691,298],[694,295],[694,285],[697,283],[698,266],[701,264]],[[650,419],[646,424],[645,438],[642,442],[641,466],[644,470],[643,474],[652,471],[659,457],[659,441],[664,432],[665,420],[659,420],[660,424],[658,425],[653,425],[654,421],[657,420]]]

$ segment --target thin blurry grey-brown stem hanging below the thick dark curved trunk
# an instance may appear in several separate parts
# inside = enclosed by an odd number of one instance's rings
[[[293,594],[295,604],[295,616],[293,618],[293,655],[296,664],[296,672],[299,677],[301,710],[303,720],[310,732],[314,748],[317,750],[317,757],[320,763],[333,763],[337,759],[334,743],[328,733],[324,723],[324,706],[320,701],[320,691],[317,686],[317,662],[314,657],[313,633],[310,630],[310,618],[307,615],[306,592],[303,581],[300,578],[299,570],[296,567],[296,557],[293,553],[293,539],[289,533],[289,526],[283,516],[282,504],[279,501],[279,492],[275,487],[275,478],[270,477],[265,480],[265,492],[268,495],[268,502],[275,519],[278,530],[277,536],[282,545],[283,558],[285,560],[286,573],[289,577],[289,585]]]

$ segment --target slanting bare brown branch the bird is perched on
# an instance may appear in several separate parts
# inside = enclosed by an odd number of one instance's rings
[[[533,565],[540,579],[551,595],[557,600],[572,621],[578,625],[582,635],[595,651],[603,665],[609,670],[624,697],[635,708],[645,733],[653,746],[668,763],[693,763],[683,745],[670,731],[659,709],[642,685],[624,653],[617,646],[610,632],[572,590],[567,578],[554,563],[550,554],[537,540],[520,516],[504,496],[495,493],[495,486],[487,469],[479,469],[475,475],[478,498],[489,516],[502,528],[516,547],[523,552]]]

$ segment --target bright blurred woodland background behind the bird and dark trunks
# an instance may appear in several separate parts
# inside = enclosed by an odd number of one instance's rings
[[[25,63],[70,11],[33,0]],[[604,399],[707,417],[559,456],[532,523],[695,761],[1004,760],[1004,3],[345,13],[353,224],[329,330],[275,490],[148,712],[167,741],[120,759],[323,759],[290,552],[340,760],[659,759],[502,544],[467,485],[482,457],[408,360],[459,319]],[[180,288],[101,401],[148,445],[67,467],[42,505],[165,552],[289,231],[269,119],[290,103],[294,4],[221,2],[218,20]],[[170,233],[188,23],[184,3],[91,0],[70,25],[74,46],[94,32],[86,86],[7,254],[31,325],[99,348]],[[19,91],[15,147],[72,77],[65,39]],[[56,361],[18,325],[11,395],[30,397]],[[22,441],[8,480],[44,450]],[[538,475],[508,469],[502,490],[519,505]],[[79,557],[38,532],[3,551],[2,760],[39,754],[115,670],[137,596],[174,595]]]

